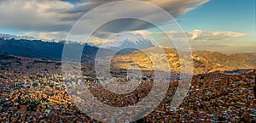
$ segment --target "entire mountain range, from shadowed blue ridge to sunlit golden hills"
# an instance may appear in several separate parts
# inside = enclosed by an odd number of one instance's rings
[[[174,71],[178,71],[182,67],[182,64],[179,63],[180,59],[175,49],[162,48],[165,53],[160,54],[154,52],[158,50],[158,47],[154,47],[153,44],[145,42],[147,45],[144,44],[145,47],[143,48],[141,47],[143,46],[143,40],[135,41],[139,42],[129,42],[127,39],[120,45],[137,45],[139,51],[136,49],[128,49],[125,51],[125,53],[116,54],[112,60],[112,66],[114,68],[128,69],[131,65],[137,65],[143,70],[153,70],[153,64],[145,53],[153,53],[152,55],[154,56],[166,57],[171,69]],[[82,45],[80,43],[73,42],[69,45],[71,45],[73,49],[84,47],[84,51],[82,53],[82,60],[84,63],[93,62],[96,57],[96,53],[99,50],[99,48],[96,46],[91,46],[89,44]],[[6,67],[6,64],[15,66],[17,64],[23,64],[23,62],[27,61],[20,59],[20,57],[30,59],[32,60],[32,63],[33,61],[38,61],[38,59],[41,59],[39,60],[39,63],[41,64],[49,64],[48,60],[50,60],[51,64],[56,63],[55,65],[59,66],[61,64],[58,61],[61,60],[63,46],[64,42],[43,42],[41,40],[4,38],[0,36],[1,69],[3,70],[3,67]],[[114,49],[118,48],[103,48],[103,52],[108,54],[113,52]],[[10,58],[12,59],[6,61],[6,59]],[[184,58],[189,58],[189,56]],[[224,54],[218,52],[195,51],[193,52],[192,59],[194,61],[193,65],[195,68],[195,75],[214,71],[256,68],[256,53]],[[165,61],[160,60],[158,63],[160,64],[162,62]],[[45,66],[48,67],[49,65]]]

